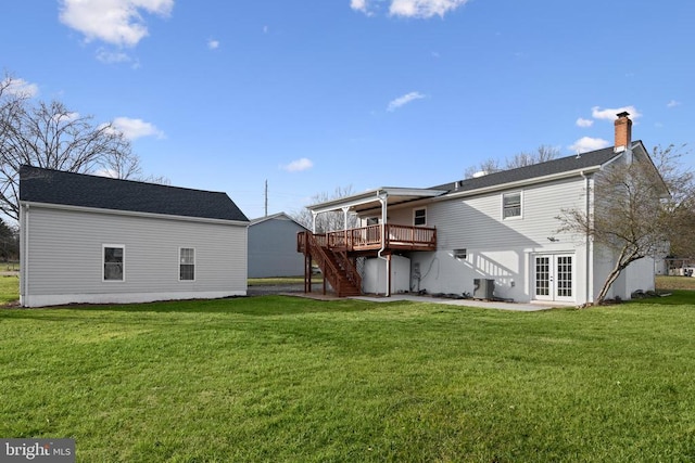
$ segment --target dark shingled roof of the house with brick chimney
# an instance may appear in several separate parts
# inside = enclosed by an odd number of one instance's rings
[[[531,166],[519,167],[516,169],[502,170],[473,179],[460,180],[458,189],[456,189],[456,182],[444,183],[438,187],[432,187],[431,189],[446,190],[450,193],[453,193],[454,191],[472,191],[482,188],[502,185],[505,183],[531,180],[539,177],[569,172],[578,169],[586,169],[593,166],[601,166],[618,155],[620,155],[620,153],[615,153],[614,147],[610,146],[603,150],[582,153],[580,155],[560,157],[558,159],[553,159],[541,164],[533,164]]]

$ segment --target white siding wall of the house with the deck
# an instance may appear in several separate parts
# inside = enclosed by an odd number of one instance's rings
[[[572,297],[585,294],[584,236],[557,233],[556,219],[564,208],[585,205],[585,183],[581,178],[525,187],[523,220],[505,220],[502,192],[434,201],[427,205],[428,227],[437,228],[435,253],[412,253],[420,278],[413,290],[430,293],[471,293],[473,280],[495,280],[495,295],[517,301],[532,297],[532,256],[545,249],[572,253],[576,286]],[[509,193],[519,192],[518,189]],[[408,223],[412,207],[389,209],[390,223]],[[553,237],[556,241],[551,241]],[[466,258],[457,256],[466,249]]]

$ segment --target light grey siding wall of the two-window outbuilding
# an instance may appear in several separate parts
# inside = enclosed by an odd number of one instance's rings
[[[26,256],[29,295],[245,294],[247,227],[31,206]],[[103,281],[102,245],[127,250],[126,281]],[[195,248],[195,281],[179,281],[178,249]],[[99,249],[99,250],[94,250]],[[204,265],[200,265],[204,262]]]

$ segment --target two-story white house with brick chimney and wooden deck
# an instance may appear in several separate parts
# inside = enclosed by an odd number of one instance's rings
[[[587,235],[560,233],[558,216],[591,214],[594,180],[612,163],[652,163],[632,142],[627,113],[616,145],[429,189],[380,188],[308,206],[357,214],[364,227],[303,233],[298,249],[316,261],[339,296],[401,292],[481,299],[593,303],[615,258]],[[305,275],[311,283],[311,274]],[[654,259],[631,263],[608,297],[654,290]],[[311,284],[305,284],[311,291]]]

